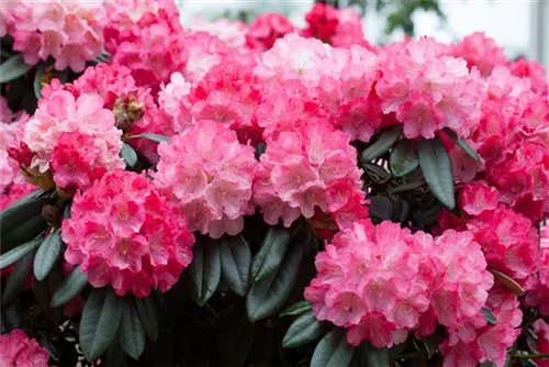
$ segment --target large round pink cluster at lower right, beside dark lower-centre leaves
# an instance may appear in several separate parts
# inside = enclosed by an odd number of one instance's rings
[[[433,246],[430,236],[391,222],[359,221],[337,233],[316,256],[317,276],[305,289],[315,316],[347,329],[351,345],[403,342],[429,305],[418,242]]]

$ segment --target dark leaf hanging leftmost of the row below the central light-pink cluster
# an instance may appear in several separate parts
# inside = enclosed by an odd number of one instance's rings
[[[194,258],[188,267],[191,277],[191,296],[203,305],[215,292],[221,279],[220,246],[213,241],[194,245]]]

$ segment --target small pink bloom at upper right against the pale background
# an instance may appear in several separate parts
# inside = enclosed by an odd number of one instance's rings
[[[503,48],[482,32],[470,34],[452,45],[451,54],[455,57],[464,58],[467,66],[470,69],[477,67],[483,77],[490,76],[494,67],[507,63]]]

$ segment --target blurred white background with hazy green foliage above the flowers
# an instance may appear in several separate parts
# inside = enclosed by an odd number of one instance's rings
[[[195,16],[250,20],[277,11],[301,26],[313,0],[178,0],[181,21]],[[505,47],[509,58],[526,56],[549,67],[549,0],[325,0],[350,5],[363,16],[372,44],[401,40],[404,34],[428,35],[441,42],[485,32]]]

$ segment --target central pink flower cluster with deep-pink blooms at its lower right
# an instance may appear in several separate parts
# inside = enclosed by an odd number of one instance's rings
[[[265,221],[290,226],[300,215],[312,218],[315,208],[340,226],[367,216],[356,154],[349,137],[327,122],[298,121],[267,140],[254,182]]]

